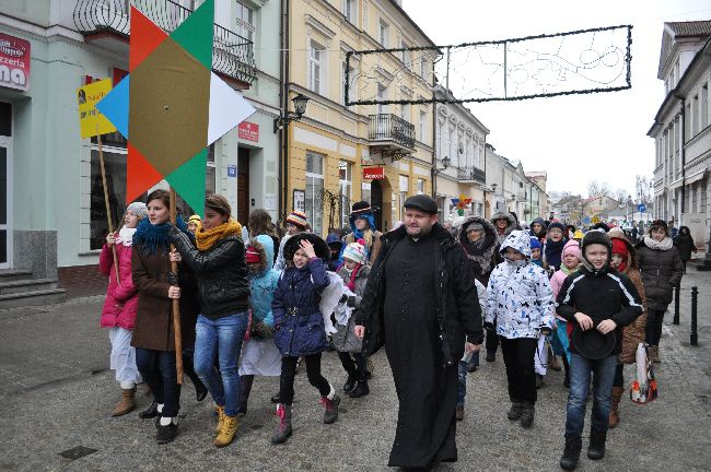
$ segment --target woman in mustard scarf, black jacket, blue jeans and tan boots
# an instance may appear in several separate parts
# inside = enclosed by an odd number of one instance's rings
[[[220,194],[205,200],[202,227],[190,238],[177,228],[171,240],[196,274],[200,291],[195,341],[195,370],[208,386],[218,409],[215,447],[232,442],[240,405],[238,359],[248,324],[249,282],[242,226]],[[197,246],[197,247],[196,247]],[[215,359],[220,371],[215,371]]]

